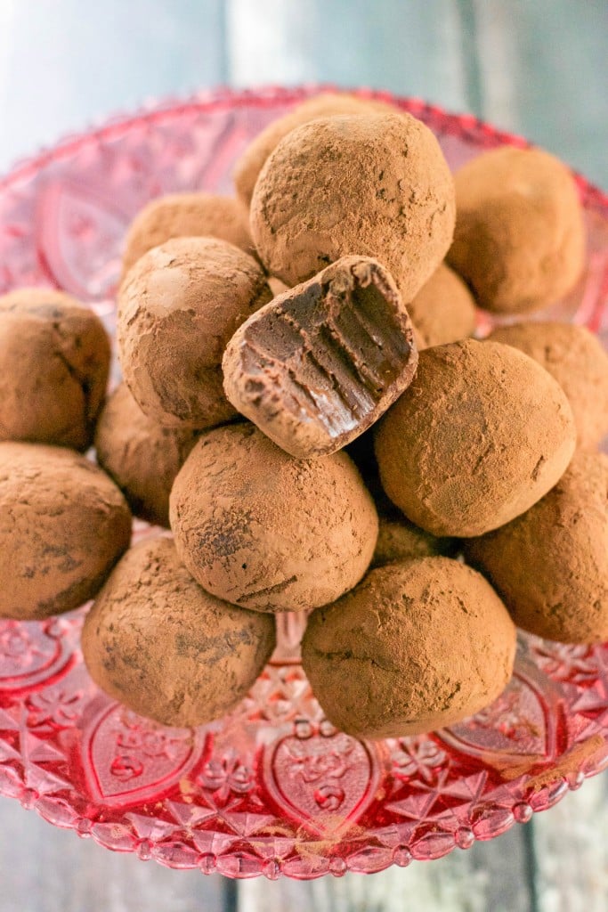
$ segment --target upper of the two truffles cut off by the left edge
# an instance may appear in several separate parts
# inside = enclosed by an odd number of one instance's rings
[[[101,320],[73,297],[48,288],[0,297],[0,440],[86,450],[109,358]]]

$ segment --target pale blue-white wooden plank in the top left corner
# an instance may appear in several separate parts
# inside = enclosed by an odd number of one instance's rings
[[[149,98],[225,82],[222,0],[0,3],[0,171]]]

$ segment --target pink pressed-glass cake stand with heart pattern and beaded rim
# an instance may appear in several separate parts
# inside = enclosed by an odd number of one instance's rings
[[[58,286],[112,330],[132,216],[163,192],[232,192],[247,142],[315,90],[160,105],[19,165],[0,181],[0,294]],[[435,131],[452,167],[525,145],[472,117],[390,100]],[[587,268],[551,314],[605,338],[608,198],[577,181]],[[249,696],[197,730],[163,728],[99,692],[82,664],[81,623],[82,611],[0,621],[0,793],[173,868],[304,879],[438,858],[529,820],[608,765],[608,645],[522,635],[515,676],[487,710],[421,737],[366,742],[324,719],[297,660],[297,618],[281,618],[281,650]]]

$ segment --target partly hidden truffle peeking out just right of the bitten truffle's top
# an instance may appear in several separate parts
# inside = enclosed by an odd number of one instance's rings
[[[469,288],[445,263],[438,265],[428,282],[407,305],[414,324],[418,350],[472,336],[475,302]]]

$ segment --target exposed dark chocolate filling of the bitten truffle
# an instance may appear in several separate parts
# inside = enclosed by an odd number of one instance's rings
[[[264,308],[241,347],[247,389],[266,413],[275,403],[332,439],[359,427],[407,366],[414,372],[411,332],[380,267],[371,266],[366,285],[349,272],[348,282],[313,281]]]

